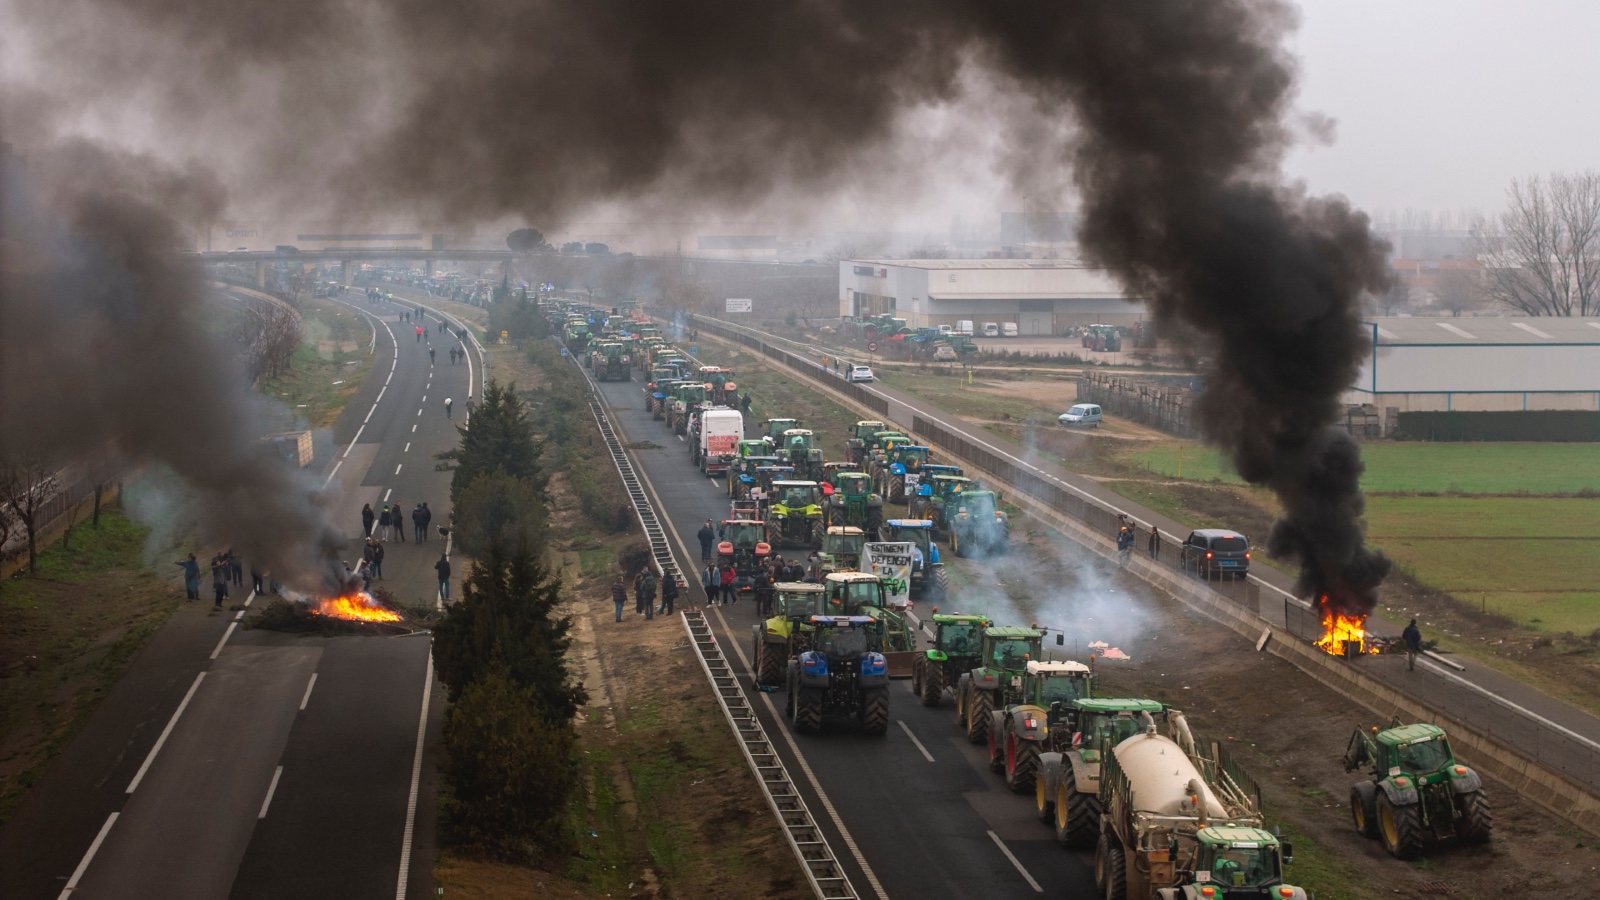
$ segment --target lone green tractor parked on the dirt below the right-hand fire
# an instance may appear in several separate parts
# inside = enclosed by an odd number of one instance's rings
[[[1384,730],[1357,729],[1344,770],[1357,769],[1368,780],[1350,788],[1350,820],[1395,858],[1414,860],[1424,839],[1483,842],[1494,830],[1483,780],[1456,762],[1438,725],[1405,725],[1397,717]]]

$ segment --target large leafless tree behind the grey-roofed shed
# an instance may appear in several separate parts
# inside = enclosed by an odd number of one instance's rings
[[[1525,315],[1600,314],[1600,173],[1514,179],[1470,247],[1490,299]]]

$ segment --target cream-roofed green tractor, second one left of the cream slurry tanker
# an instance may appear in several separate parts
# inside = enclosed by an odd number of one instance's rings
[[[1005,775],[1013,793],[1034,790],[1038,759],[1072,703],[1093,693],[1094,671],[1072,660],[1029,660],[1022,671],[1022,700],[989,717],[989,770]],[[1070,738],[1069,738],[1070,741]]]

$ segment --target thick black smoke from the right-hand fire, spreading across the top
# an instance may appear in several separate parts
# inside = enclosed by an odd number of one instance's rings
[[[1282,498],[1269,544],[1302,589],[1366,612],[1387,572],[1358,528],[1357,447],[1328,429],[1384,253],[1365,216],[1282,178],[1306,122],[1286,3],[11,10],[19,77],[96,122],[134,99],[146,144],[202,147],[230,186],[322,215],[549,226],[629,203],[742,213],[877,191],[883,207],[994,173],[1037,199],[1070,173],[1085,255],[1211,360],[1206,436]],[[931,144],[909,123],[939,109],[998,141]]]

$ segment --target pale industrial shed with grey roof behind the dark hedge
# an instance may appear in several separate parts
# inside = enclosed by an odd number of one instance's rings
[[[1600,410],[1600,319],[1371,319],[1347,404],[1411,412]]]

